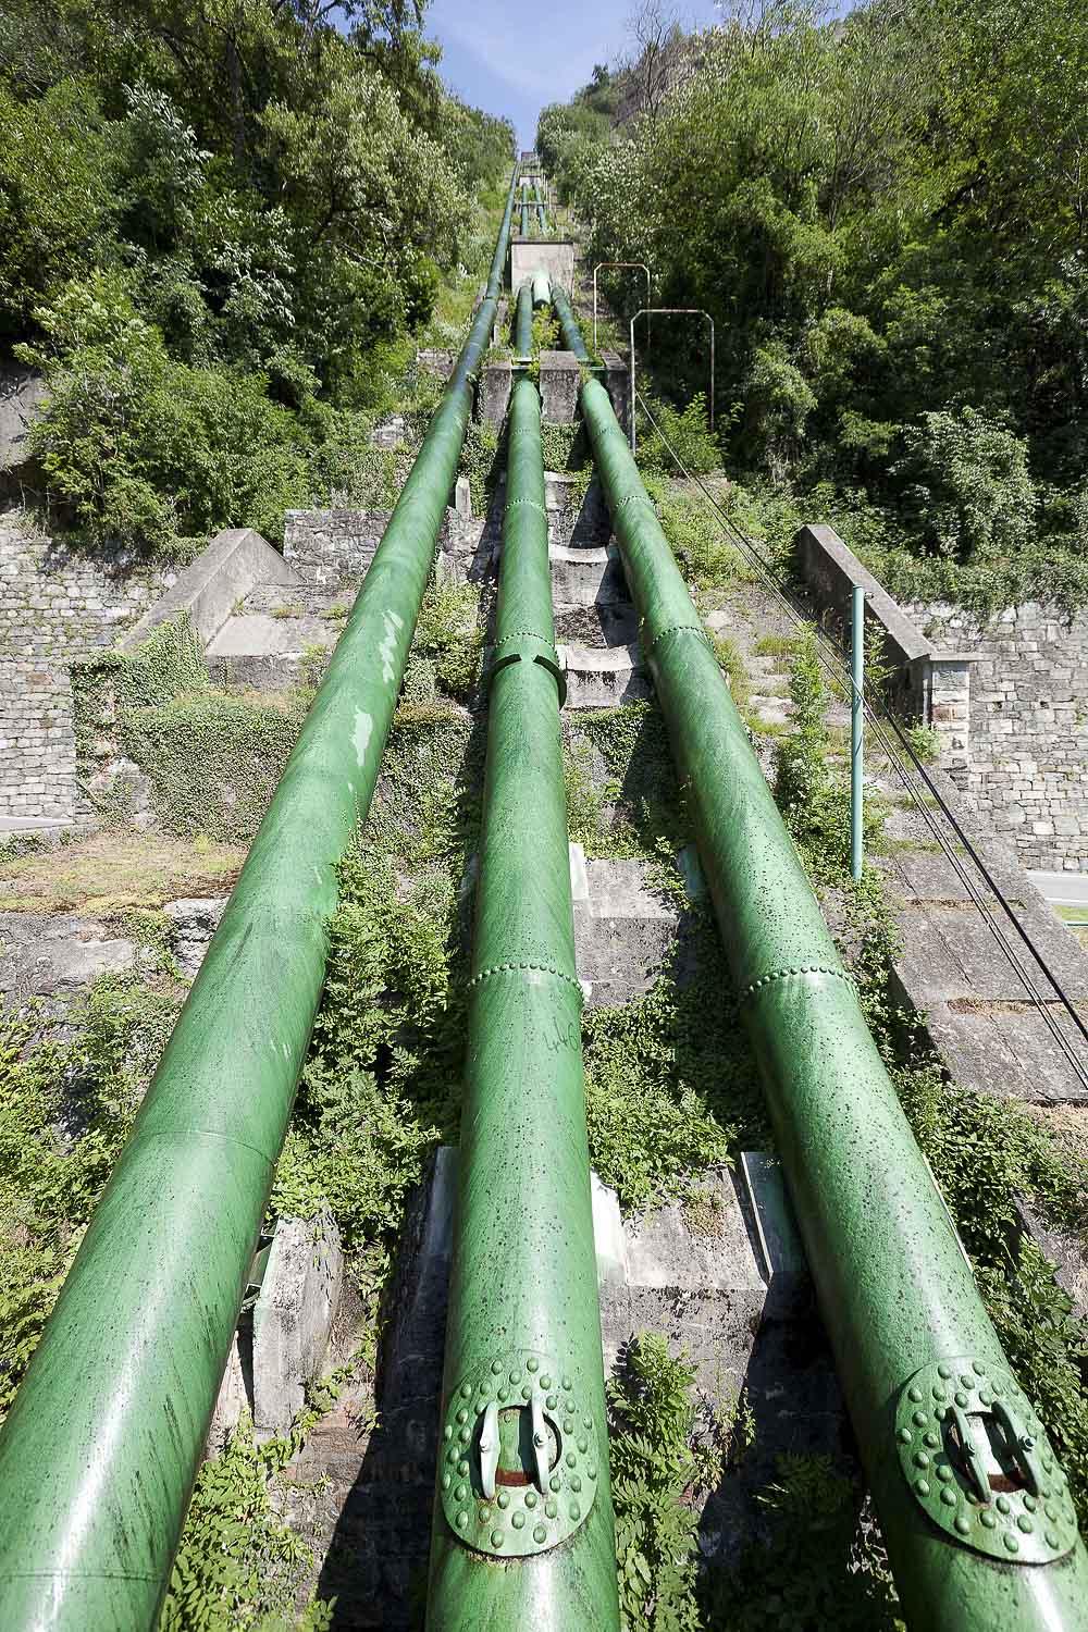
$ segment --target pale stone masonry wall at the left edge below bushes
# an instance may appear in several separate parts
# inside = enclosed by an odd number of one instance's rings
[[[78,814],[69,664],[111,646],[175,576],[0,516],[0,818]]]

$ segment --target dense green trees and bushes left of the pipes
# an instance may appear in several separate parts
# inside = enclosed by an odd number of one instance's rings
[[[51,387],[54,526],[277,537],[351,485],[444,282],[460,326],[512,155],[422,8],[3,0],[0,349]]]

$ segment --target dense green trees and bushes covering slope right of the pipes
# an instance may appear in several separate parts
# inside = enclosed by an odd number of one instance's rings
[[[900,588],[1000,594],[1010,565],[1050,586],[1047,561],[1073,571],[1088,545],[1080,0],[874,0],[845,21],[752,0],[690,38],[649,5],[638,42],[546,108],[537,140],[594,261],[646,261],[657,304],[714,317],[731,473],[817,490],[804,508]],[[636,292],[613,284],[617,307]],[[703,341],[680,325],[669,339],[687,346],[687,400]]]

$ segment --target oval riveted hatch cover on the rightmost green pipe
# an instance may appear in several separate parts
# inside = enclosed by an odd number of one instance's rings
[[[1077,1546],[1077,1510],[1028,1395],[972,1356],[923,1366],[896,1407],[896,1451],[940,1529],[1003,1563],[1052,1563]]]

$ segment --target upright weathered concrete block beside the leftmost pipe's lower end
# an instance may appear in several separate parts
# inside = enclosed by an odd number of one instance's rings
[[[253,1425],[282,1433],[325,1364],[344,1257],[329,1213],[281,1219],[253,1309]]]

